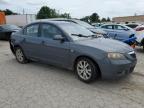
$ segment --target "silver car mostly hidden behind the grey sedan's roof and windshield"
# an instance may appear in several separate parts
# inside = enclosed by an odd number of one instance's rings
[[[96,29],[95,27],[91,26],[90,24],[88,24],[84,21],[78,20],[78,19],[52,18],[52,19],[48,19],[48,20],[50,20],[50,21],[66,21],[66,22],[76,23],[76,24],[79,24],[79,25],[87,28],[88,30],[92,31],[97,36],[105,37],[105,38],[108,37],[107,33],[105,31],[103,31],[102,29]]]

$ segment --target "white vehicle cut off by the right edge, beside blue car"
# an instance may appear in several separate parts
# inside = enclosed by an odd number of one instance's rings
[[[142,46],[144,50],[144,25],[136,28],[137,45]]]

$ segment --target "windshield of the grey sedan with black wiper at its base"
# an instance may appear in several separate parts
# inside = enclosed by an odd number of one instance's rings
[[[91,31],[83,26],[74,23],[59,24],[60,28],[71,36],[73,40],[86,39],[94,35]]]

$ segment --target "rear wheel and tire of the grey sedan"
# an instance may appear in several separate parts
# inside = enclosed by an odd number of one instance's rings
[[[20,47],[15,48],[15,56],[16,56],[16,60],[19,63],[21,64],[28,63],[28,59],[25,57],[23,50]]]

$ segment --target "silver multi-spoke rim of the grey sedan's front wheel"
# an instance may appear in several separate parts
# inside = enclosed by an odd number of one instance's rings
[[[90,64],[87,61],[79,61],[77,64],[77,72],[80,78],[84,80],[88,80],[91,78],[92,69]]]

